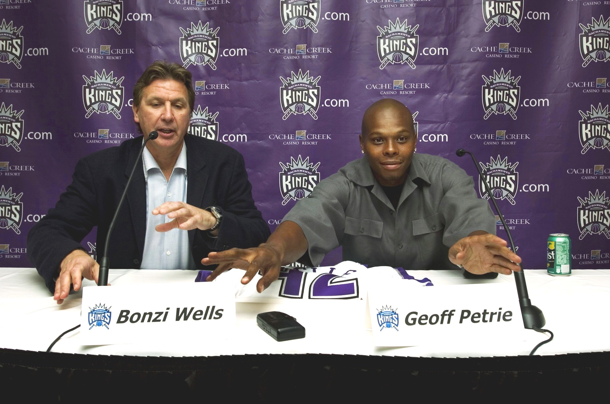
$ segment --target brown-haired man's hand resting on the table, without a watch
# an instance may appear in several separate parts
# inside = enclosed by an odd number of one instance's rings
[[[83,250],[74,250],[66,255],[59,265],[59,270],[53,295],[58,305],[61,305],[63,300],[68,297],[70,284],[74,285],[74,290],[81,289],[83,276],[98,283],[99,264]]]

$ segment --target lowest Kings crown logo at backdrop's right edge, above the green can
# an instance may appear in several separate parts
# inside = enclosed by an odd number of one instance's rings
[[[589,191],[589,198],[578,197],[578,201],[578,239],[584,239],[587,234],[603,234],[610,239],[610,198],[606,198],[606,191],[601,194],[598,189],[595,194]]]

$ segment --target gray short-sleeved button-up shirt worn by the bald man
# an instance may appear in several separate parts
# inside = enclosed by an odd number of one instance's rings
[[[495,234],[486,200],[471,176],[442,157],[415,153],[394,209],[365,157],[320,181],[284,220],[295,222],[309,244],[299,261],[317,266],[343,246],[343,259],[371,266],[456,269],[451,245],[476,230]]]

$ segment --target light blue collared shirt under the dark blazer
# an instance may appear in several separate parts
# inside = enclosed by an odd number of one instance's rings
[[[184,142],[184,141],[183,141]],[[146,179],[146,238],[140,269],[195,269],[195,262],[188,245],[188,232],[171,229],[165,233],[155,230],[157,225],[171,222],[167,215],[152,215],[152,209],[170,201],[187,201],[187,145],[171,172],[170,181],[165,179],[159,164],[148,148],[142,153],[144,178]]]

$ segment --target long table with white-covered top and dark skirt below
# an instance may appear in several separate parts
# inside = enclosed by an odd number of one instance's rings
[[[504,275],[473,281],[462,278],[459,271],[409,273],[427,276],[435,285],[514,283],[512,276]],[[297,392],[301,399],[324,394],[327,399],[359,401],[396,397],[398,392],[412,399],[497,398],[498,394],[506,399],[526,395],[582,399],[582,392],[603,391],[610,376],[610,352],[604,352],[610,351],[605,314],[610,271],[575,270],[569,277],[548,276],[543,270],[525,273],[533,304],[544,311],[545,328],[555,333],[555,339],[537,351],[542,356],[522,356],[546,338],[535,331],[528,341],[376,348],[370,331],[321,315],[324,302],[289,307],[237,303],[237,336],[227,341],[193,336],[179,346],[142,341],[82,347],[74,331],[55,345],[57,353],[45,354],[35,351],[45,350],[79,322],[81,294],[70,295],[58,306],[34,269],[4,268],[0,269],[0,384],[8,392],[38,400],[62,394],[81,399],[92,394],[93,382],[112,390],[126,388],[122,399],[156,400],[201,398],[211,388],[238,399],[270,400]],[[195,275],[111,270],[109,282],[179,286],[192,282]],[[303,323],[307,337],[278,343],[260,331],[256,314],[276,309]],[[334,328],[329,329],[329,324]]]

